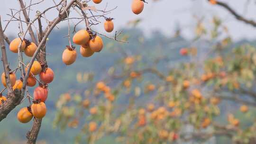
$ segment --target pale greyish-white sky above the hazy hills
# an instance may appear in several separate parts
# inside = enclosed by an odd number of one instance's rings
[[[30,0],[24,0],[29,3]],[[41,0],[32,0],[32,3]],[[59,1],[59,0],[55,0]],[[69,1],[69,0],[68,0]],[[225,19],[225,25],[229,27],[230,34],[234,39],[239,40],[242,38],[255,39],[256,37],[256,27],[251,27],[244,24],[243,22],[238,22],[232,15],[229,14],[225,9],[219,6],[210,5],[207,0],[160,0],[159,2],[153,2],[152,0],[146,0],[148,4],[145,4],[144,11],[140,15],[135,15],[131,12],[131,2],[132,0],[102,0],[101,4],[93,4],[97,9],[103,9],[108,3],[108,8],[112,9],[115,6],[118,8],[111,12],[108,17],[115,18],[115,29],[120,27],[127,27],[127,22],[136,18],[143,18],[138,27],[142,28],[144,32],[148,35],[152,30],[160,29],[167,36],[174,33],[175,26],[179,22],[180,26],[183,28],[182,35],[188,38],[193,36],[192,28],[195,26],[195,20],[192,18],[193,14],[199,14],[205,16],[206,23],[207,20],[210,21],[213,15],[217,15],[222,19]],[[247,7],[247,11],[244,10],[245,2],[247,0],[222,0],[229,3],[229,5],[235,9],[239,14],[245,14],[246,18],[252,18],[256,20],[256,4],[253,0]],[[31,16],[35,16],[36,10],[44,10],[47,7],[53,6],[52,0],[45,0],[40,7],[33,7],[33,11],[30,12]],[[10,17],[6,14],[10,14],[10,8],[18,9],[18,0],[1,0],[0,5],[0,15],[2,20],[8,20]],[[55,12],[48,12],[46,17],[50,20],[55,18]],[[103,19],[101,19],[103,21]],[[5,26],[4,22],[3,26]],[[73,25],[73,22],[71,22]],[[8,35],[18,34],[18,22],[12,22],[9,29],[6,31]],[[58,27],[67,26],[67,21],[61,22]],[[82,25],[81,25],[82,26]],[[105,33],[103,30],[103,24],[97,25],[97,31]]]

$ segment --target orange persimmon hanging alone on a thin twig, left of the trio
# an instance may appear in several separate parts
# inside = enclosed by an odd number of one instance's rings
[[[70,46],[69,47],[67,46],[67,48],[64,50],[62,54],[62,61],[66,65],[70,65],[75,62],[76,56],[77,56],[76,51]]]

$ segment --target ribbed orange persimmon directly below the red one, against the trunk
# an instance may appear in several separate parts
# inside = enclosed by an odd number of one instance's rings
[[[44,102],[38,102],[31,105],[31,111],[34,117],[43,118],[46,115],[46,104]]]

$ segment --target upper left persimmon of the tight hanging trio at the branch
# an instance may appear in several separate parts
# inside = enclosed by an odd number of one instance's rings
[[[76,45],[86,45],[90,40],[90,35],[85,29],[81,29],[73,36],[73,43]]]

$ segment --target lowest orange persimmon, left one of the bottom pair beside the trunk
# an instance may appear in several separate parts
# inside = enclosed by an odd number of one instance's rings
[[[33,118],[33,115],[30,111],[31,108],[29,107],[21,108],[17,114],[18,121],[21,123],[28,123]]]

